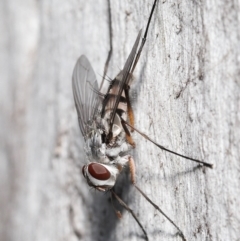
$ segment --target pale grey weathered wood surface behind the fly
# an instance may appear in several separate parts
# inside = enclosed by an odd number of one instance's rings
[[[113,53],[122,68],[152,0],[111,1]],[[143,240],[118,220],[109,194],[90,189],[71,89],[85,54],[101,80],[109,51],[107,0],[0,3],[0,240]],[[131,96],[136,127],[199,167],[134,134],[137,183],[187,240],[240,240],[240,3],[159,1]],[[125,179],[127,175],[125,175]],[[124,201],[149,240],[181,240],[123,180]]]

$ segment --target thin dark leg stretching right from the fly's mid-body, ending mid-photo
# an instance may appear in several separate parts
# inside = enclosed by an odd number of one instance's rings
[[[136,129],[134,126],[130,125],[128,122],[126,122],[125,120],[122,119],[122,121],[129,127],[131,127],[133,130],[135,130],[137,133],[139,133],[141,136],[143,136],[145,139],[147,139],[148,141],[152,142],[154,145],[156,145],[157,147],[159,147],[160,149],[164,150],[164,151],[167,151],[167,152],[170,152],[176,156],[180,156],[182,158],[185,158],[187,160],[190,160],[190,161],[194,161],[194,162],[197,162],[199,164],[202,164],[206,167],[209,167],[209,168],[213,168],[213,164],[211,163],[207,163],[207,162],[204,162],[204,161],[200,161],[198,159],[194,159],[194,158],[191,158],[191,157],[188,157],[188,156],[184,156],[182,154],[179,154],[175,151],[171,151],[169,149],[167,149],[166,147],[162,146],[162,145],[159,145],[157,142],[155,142],[154,140],[152,140],[150,137],[148,137],[146,134],[142,133],[141,131],[139,131],[138,129]]]

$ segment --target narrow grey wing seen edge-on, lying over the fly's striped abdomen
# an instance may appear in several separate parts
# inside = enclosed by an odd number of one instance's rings
[[[131,68],[133,66],[134,59],[135,59],[135,56],[136,56],[138,44],[139,44],[139,41],[140,41],[140,38],[141,38],[141,33],[142,33],[142,30],[139,31],[138,36],[137,36],[137,38],[135,40],[135,43],[133,45],[133,48],[131,50],[131,53],[129,54],[129,56],[127,58],[127,61],[124,65],[124,67],[123,67],[123,70],[120,72],[120,75],[122,77],[121,77],[120,81],[118,80],[118,88],[117,88],[118,93],[117,93],[116,97],[114,98],[114,101],[112,101],[112,114],[111,114],[111,118],[110,118],[110,131],[109,131],[110,135],[112,133],[112,127],[113,127],[116,111],[117,111],[117,108],[118,108],[119,101],[121,99],[123,89],[126,86],[128,86],[130,78],[131,78],[130,72],[131,72]]]

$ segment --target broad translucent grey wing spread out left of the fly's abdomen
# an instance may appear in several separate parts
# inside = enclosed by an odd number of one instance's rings
[[[72,89],[79,127],[86,138],[96,119],[101,99],[96,75],[85,55],[80,56],[74,67]]]

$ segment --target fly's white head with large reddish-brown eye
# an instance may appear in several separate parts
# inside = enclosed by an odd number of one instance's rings
[[[110,190],[115,185],[120,171],[121,168],[115,164],[105,165],[97,162],[84,165],[82,168],[82,174],[88,185],[103,192]]]

